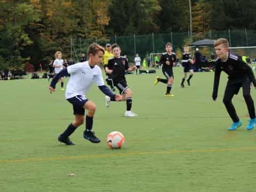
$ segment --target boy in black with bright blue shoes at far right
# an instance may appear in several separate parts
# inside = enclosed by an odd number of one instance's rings
[[[246,102],[250,121],[247,125],[247,130],[252,130],[256,123],[254,103],[251,97],[251,83],[256,88],[256,81],[253,71],[241,57],[228,52],[228,41],[225,38],[220,38],[214,43],[215,52],[218,55],[215,67],[214,85],[212,99],[215,101],[218,95],[218,87],[220,81],[220,73],[223,70],[228,74],[228,83],[226,86],[223,103],[228,111],[229,116],[233,120],[232,126],[228,130],[236,130],[237,127],[242,125],[239,120],[236,110],[232,104],[234,94],[238,94],[239,89],[242,87],[243,96]]]

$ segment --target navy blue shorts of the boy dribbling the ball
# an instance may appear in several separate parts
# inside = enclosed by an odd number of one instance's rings
[[[84,96],[82,95],[76,95],[73,98],[67,99],[68,102],[70,102],[73,105],[74,115],[84,115],[84,104],[88,101]]]

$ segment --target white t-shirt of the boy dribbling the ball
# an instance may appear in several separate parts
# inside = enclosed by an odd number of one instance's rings
[[[104,85],[100,67],[95,65],[91,68],[88,61],[68,66],[67,70],[70,79],[66,88],[66,99],[73,98],[76,95],[85,95],[94,82],[98,86]]]

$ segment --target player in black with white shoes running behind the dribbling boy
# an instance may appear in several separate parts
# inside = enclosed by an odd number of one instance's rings
[[[111,74],[114,85],[119,90],[121,96],[121,101],[126,101],[126,111],[125,116],[135,117],[137,114],[131,111],[132,108],[132,91],[126,83],[125,71],[132,71],[137,69],[136,66],[132,68],[129,67],[128,61],[126,58],[121,57],[121,48],[116,43],[111,46],[112,53],[114,54],[113,58],[108,60],[108,65],[106,66],[107,74]],[[110,101],[115,101],[106,97],[106,106],[109,107]]]

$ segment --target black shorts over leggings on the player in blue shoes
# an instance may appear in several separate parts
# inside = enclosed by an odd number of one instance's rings
[[[240,88],[243,87],[243,94],[250,94],[251,92],[251,81],[248,77],[245,77],[241,80],[238,79],[238,81],[234,80],[228,80],[225,95],[234,95],[238,94]]]

